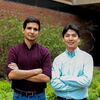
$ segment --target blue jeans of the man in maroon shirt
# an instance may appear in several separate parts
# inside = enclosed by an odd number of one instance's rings
[[[23,96],[14,92],[13,100],[46,100],[46,98],[44,92],[36,94],[34,96]]]

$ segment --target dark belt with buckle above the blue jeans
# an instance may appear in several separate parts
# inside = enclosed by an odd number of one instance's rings
[[[14,89],[14,92],[21,94],[23,96],[34,96],[36,94],[44,92],[44,90],[38,90],[38,91],[23,91],[19,89]]]

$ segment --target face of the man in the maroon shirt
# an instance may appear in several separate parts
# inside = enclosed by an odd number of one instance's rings
[[[37,23],[27,23],[26,28],[23,29],[24,38],[28,41],[35,41],[39,34],[39,26]]]

